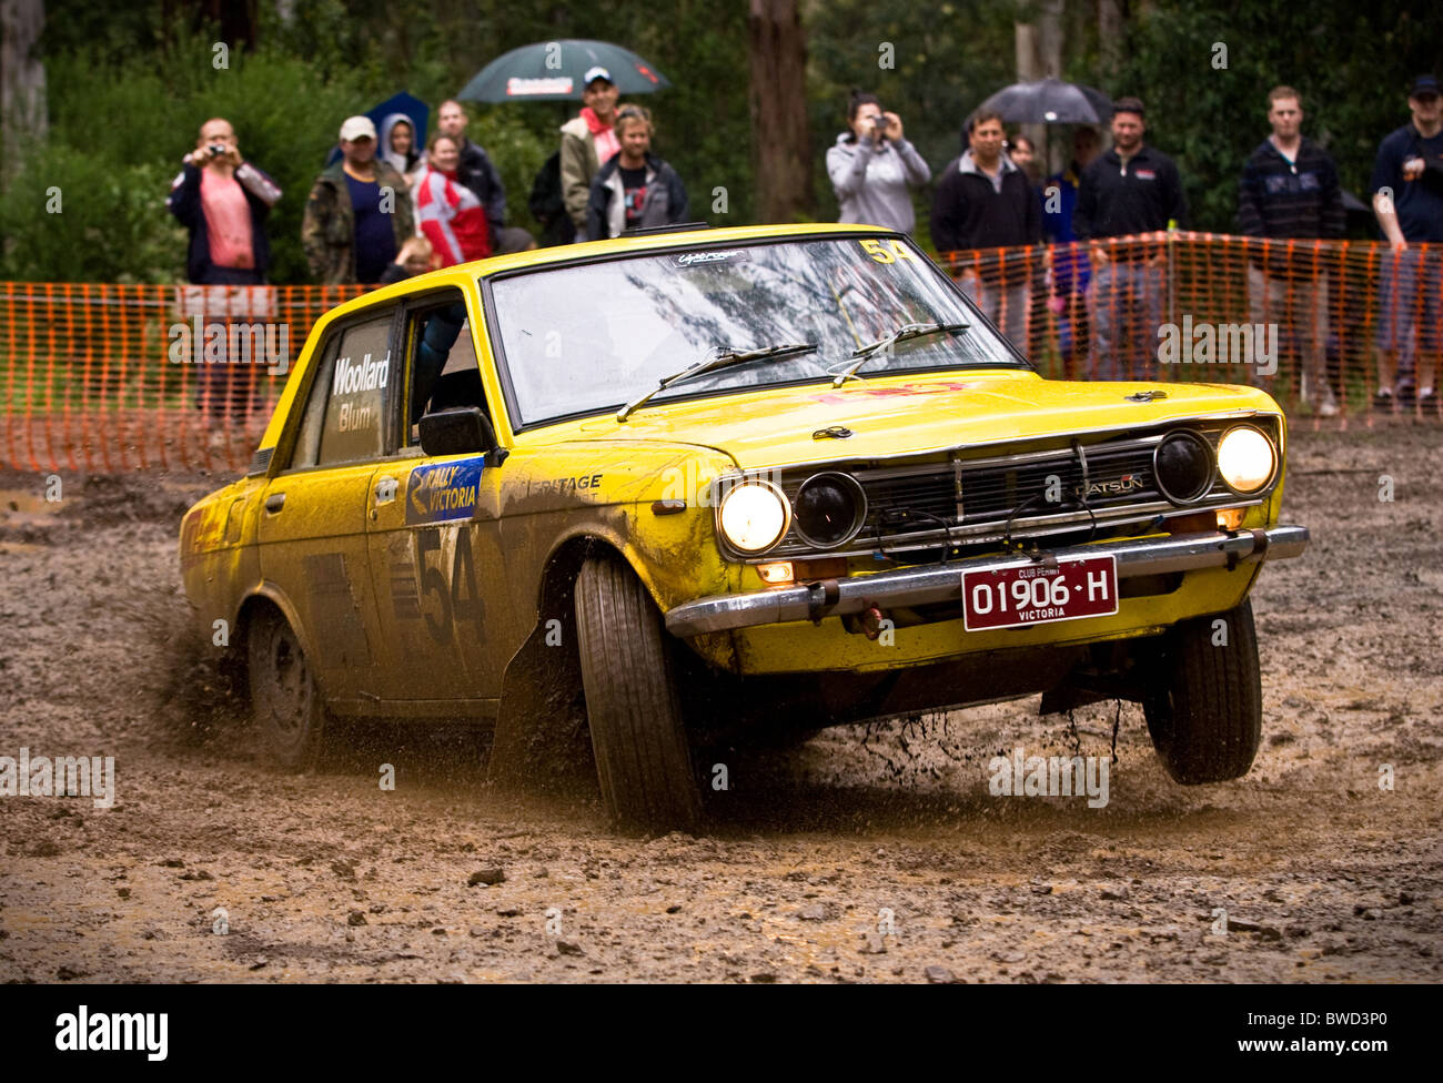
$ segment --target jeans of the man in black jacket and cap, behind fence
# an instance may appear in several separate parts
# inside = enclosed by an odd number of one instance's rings
[[[1163,268],[1141,260],[1092,267],[1092,379],[1156,378],[1165,286]]]

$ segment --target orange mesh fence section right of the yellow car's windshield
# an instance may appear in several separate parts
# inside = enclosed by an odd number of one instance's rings
[[[1170,231],[941,258],[1049,376],[1251,384],[1343,425],[1388,388],[1381,411],[1437,417],[1439,245]]]

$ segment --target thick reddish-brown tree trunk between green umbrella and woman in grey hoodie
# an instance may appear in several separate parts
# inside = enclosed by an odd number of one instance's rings
[[[797,0],[750,0],[752,146],[758,222],[795,222],[814,209],[807,128],[807,37]]]

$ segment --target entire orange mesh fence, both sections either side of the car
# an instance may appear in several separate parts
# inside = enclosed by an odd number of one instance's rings
[[[1437,417],[1443,247],[1166,232],[948,252],[1049,376],[1253,384]],[[316,319],[362,287],[0,283],[0,466],[241,470]],[[1375,411],[1369,411],[1369,421]]]

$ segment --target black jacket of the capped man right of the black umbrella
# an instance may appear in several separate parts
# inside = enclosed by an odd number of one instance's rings
[[[1079,239],[1150,234],[1166,229],[1169,221],[1183,226],[1188,202],[1177,166],[1160,150],[1143,144],[1126,169],[1117,150],[1108,150],[1082,172],[1072,211]]]

